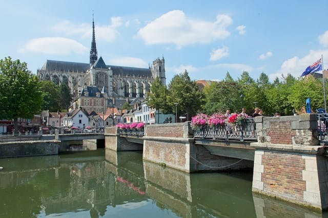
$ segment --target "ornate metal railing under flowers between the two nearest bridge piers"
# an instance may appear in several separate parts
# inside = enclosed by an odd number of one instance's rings
[[[222,126],[203,126],[194,128],[194,138],[207,139],[257,139],[254,118],[247,118],[239,124],[223,124]]]

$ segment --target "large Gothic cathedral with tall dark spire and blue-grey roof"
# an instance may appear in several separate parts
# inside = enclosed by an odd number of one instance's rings
[[[166,85],[164,58],[157,58],[149,68],[106,65],[102,57],[98,58],[94,20],[92,20],[90,62],[47,60],[42,68],[37,69],[37,77],[40,81],[50,80],[57,85],[67,84],[73,94],[74,104],[79,107],[83,104],[76,101],[82,96],[100,98],[106,95],[106,98],[112,98],[108,102],[113,104],[117,100],[136,98],[143,100],[147,97],[147,92],[150,91],[150,86],[156,77]],[[90,101],[89,106],[92,106],[93,100]],[[92,107],[87,111],[92,111]]]

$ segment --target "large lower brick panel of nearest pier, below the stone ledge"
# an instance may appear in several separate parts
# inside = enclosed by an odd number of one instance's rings
[[[302,179],[305,160],[302,155],[264,152],[262,155],[264,192],[284,198],[303,199],[306,182]]]

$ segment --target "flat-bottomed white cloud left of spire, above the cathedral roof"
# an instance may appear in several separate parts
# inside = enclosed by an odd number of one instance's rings
[[[62,37],[32,39],[26,43],[24,49],[18,50],[20,53],[35,52],[55,55],[68,55],[72,53],[85,54],[87,51],[87,47],[79,42]]]

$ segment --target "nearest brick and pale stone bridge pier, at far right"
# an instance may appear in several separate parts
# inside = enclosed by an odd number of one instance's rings
[[[328,208],[327,157],[317,139],[316,114],[255,118],[252,190],[274,198]]]

